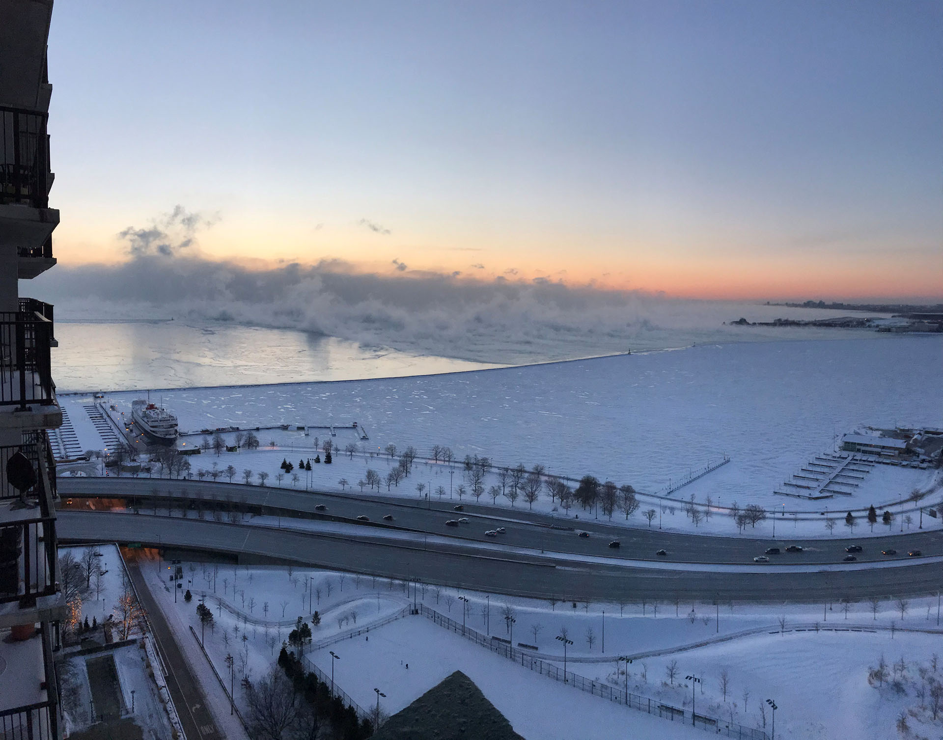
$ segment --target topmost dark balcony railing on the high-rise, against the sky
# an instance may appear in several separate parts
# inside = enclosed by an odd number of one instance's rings
[[[49,205],[48,114],[0,107],[0,204]]]

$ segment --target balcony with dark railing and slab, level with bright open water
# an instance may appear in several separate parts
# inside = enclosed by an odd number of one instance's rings
[[[50,368],[52,346],[53,323],[40,312],[0,313],[0,429],[48,429],[62,423]]]

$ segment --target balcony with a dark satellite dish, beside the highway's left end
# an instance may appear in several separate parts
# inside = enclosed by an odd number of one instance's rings
[[[0,447],[6,472],[13,455],[23,453],[35,474],[25,491],[0,478],[0,627],[64,617],[58,589],[56,467],[44,430],[27,432],[23,443]]]

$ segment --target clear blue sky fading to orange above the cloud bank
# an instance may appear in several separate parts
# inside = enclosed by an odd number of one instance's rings
[[[60,264],[943,297],[943,4],[57,4]]]

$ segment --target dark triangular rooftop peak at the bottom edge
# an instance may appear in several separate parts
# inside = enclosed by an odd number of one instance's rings
[[[468,676],[456,670],[404,710],[372,740],[523,740]]]

